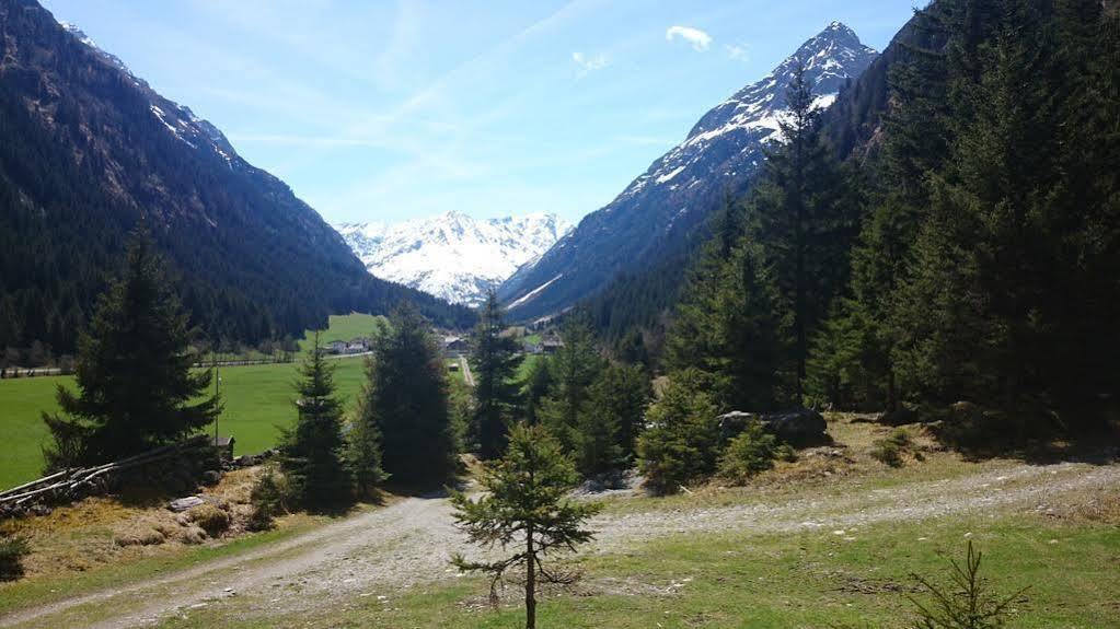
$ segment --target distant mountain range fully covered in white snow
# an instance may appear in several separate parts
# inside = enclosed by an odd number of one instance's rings
[[[346,244],[377,278],[478,306],[571,228],[553,214],[477,220],[458,212],[395,223],[343,223]]]

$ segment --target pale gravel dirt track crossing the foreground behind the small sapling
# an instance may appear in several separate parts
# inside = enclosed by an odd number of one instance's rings
[[[1120,482],[1120,466],[1017,464],[961,478],[889,489],[855,488],[842,497],[771,504],[604,515],[590,552],[612,552],[693,532],[781,533],[851,528],[979,509],[1034,508],[1062,494]],[[231,595],[258,595],[269,609],[329,605],[421,582],[452,579],[448,558],[474,553],[451,524],[447,500],[409,498],[306,535],[143,583],[76,597],[0,618],[0,627],[52,626],[50,617],[95,603],[121,611],[96,628],[146,626],[178,610]]]

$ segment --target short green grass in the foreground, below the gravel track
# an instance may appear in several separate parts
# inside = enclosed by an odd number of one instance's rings
[[[539,603],[539,626],[566,628],[914,627],[907,597],[928,601],[913,573],[945,583],[950,558],[967,539],[983,552],[995,593],[1016,597],[1009,627],[1113,627],[1120,531],[1103,523],[1047,523],[1033,515],[888,523],[838,536],[830,531],[688,535],[625,553],[586,554],[582,581]],[[486,602],[487,582],[466,578],[307,613],[272,616],[265,600],[227,599],[167,618],[160,627],[517,627],[524,611],[511,583],[502,604]],[[386,595],[388,594],[388,595]],[[315,609],[314,605],[310,605]]]

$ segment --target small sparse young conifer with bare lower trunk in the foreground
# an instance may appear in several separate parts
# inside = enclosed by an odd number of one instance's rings
[[[525,571],[525,627],[536,627],[536,584],[571,583],[576,575],[544,560],[557,552],[571,552],[590,542],[585,522],[598,506],[575,503],[568,491],[577,480],[576,470],[561,452],[560,443],[542,426],[519,424],[510,433],[505,456],[487,466],[482,486],[486,494],[472,500],[451,495],[455,520],[472,542],[486,547],[516,547],[514,554],[493,562],[452,560],[460,570],[492,575],[491,597],[512,570]]]

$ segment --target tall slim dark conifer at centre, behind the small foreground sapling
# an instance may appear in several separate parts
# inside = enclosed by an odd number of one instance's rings
[[[491,291],[475,328],[475,351],[470,356],[475,375],[474,434],[483,459],[493,459],[505,450],[505,434],[517,407],[514,376],[521,355],[517,342],[502,336],[504,329],[502,307]]]

